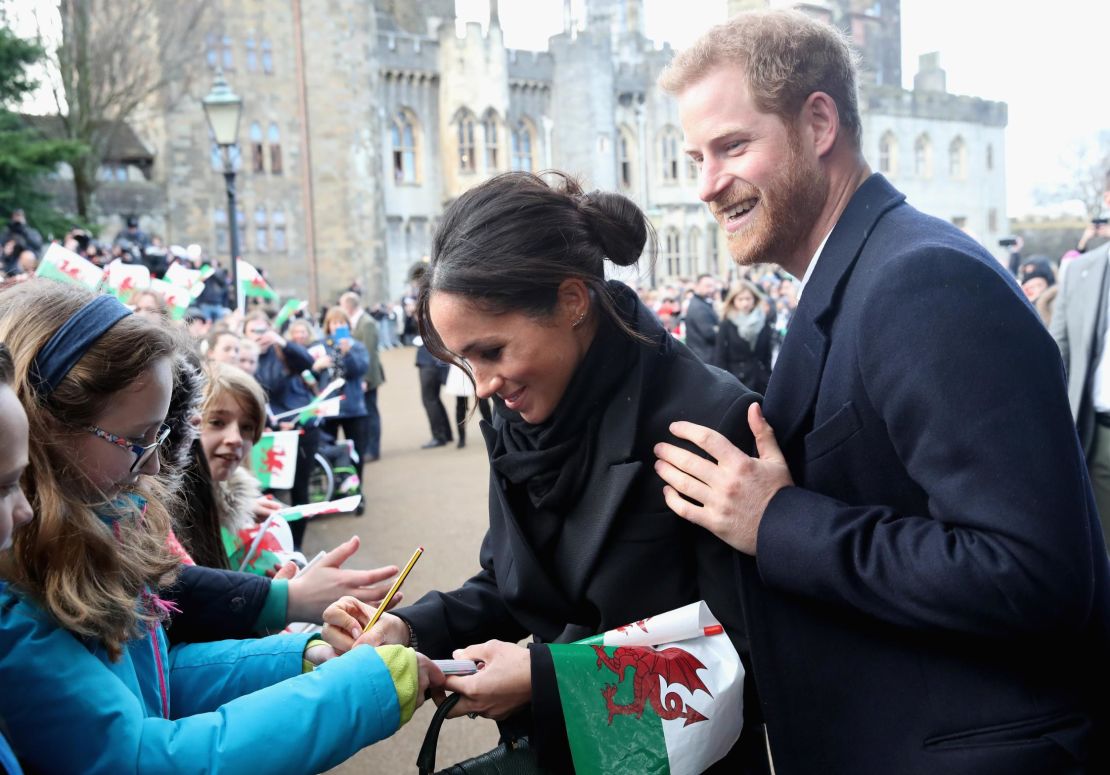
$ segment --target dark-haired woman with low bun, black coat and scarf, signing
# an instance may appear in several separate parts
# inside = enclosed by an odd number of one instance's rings
[[[525,725],[553,772],[571,762],[543,644],[704,600],[744,653],[735,553],[673,516],[653,447],[688,420],[751,449],[745,417],[757,396],[676,342],[632,289],[605,280],[605,262],[637,263],[649,233],[620,194],[500,175],[447,208],[420,298],[428,350],[493,397],[493,423],[482,426],[490,531],[477,575],[385,614],[364,637],[435,656],[470,646],[461,656],[485,667],[451,680],[464,695],[453,713]],[[325,637],[349,647],[344,633],[367,617],[365,605],[332,606]],[[534,645],[516,645],[528,635]],[[745,761],[738,747],[718,766],[739,772]]]

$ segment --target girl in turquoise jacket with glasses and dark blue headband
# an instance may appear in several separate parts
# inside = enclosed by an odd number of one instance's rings
[[[36,515],[0,557],[0,717],[31,768],[315,773],[442,682],[411,651],[329,660],[307,635],[169,647],[158,590],[178,564],[155,475],[178,342],[44,280],[0,293],[0,341],[34,440]]]

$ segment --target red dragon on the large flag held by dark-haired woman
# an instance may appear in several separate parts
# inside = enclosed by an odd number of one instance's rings
[[[647,647],[618,646],[613,656],[608,656],[603,646],[594,646],[594,651],[597,652],[597,668],[608,667],[616,673],[617,683],[624,681],[625,670],[632,668],[634,695],[630,703],[618,705],[613,702],[617,684],[606,684],[602,690],[610,725],[616,715],[635,715],[640,718],[648,703],[664,721],[685,718],[683,726],[707,721],[706,716],[686,705],[677,692],[669,692],[663,696],[659,684],[662,677],[668,684],[682,684],[690,693],[702,690],[713,696],[709,688],[697,677],[697,672],[706,670],[706,666],[689,652],[674,647],[655,651]]]

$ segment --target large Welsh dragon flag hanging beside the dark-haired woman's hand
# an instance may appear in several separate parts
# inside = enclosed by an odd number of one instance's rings
[[[705,603],[549,646],[575,769],[695,775],[744,726],[744,665]]]

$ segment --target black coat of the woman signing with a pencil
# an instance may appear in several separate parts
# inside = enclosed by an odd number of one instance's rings
[[[553,556],[537,558],[492,473],[482,571],[458,590],[428,593],[396,612],[413,627],[421,652],[448,657],[454,648],[527,635],[536,643],[568,643],[704,600],[746,653],[737,555],[667,507],[653,447],[679,443],[668,425],[686,420],[717,429],[750,451],[747,410],[758,396],[705,365],[646,308],[637,304],[637,310],[636,326],[652,344],[628,340],[640,358],[604,410],[587,484],[566,514],[565,540]],[[495,416],[494,423],[501,422]],[[482,430],[492,449],[495,430],[486,423]],[[546,650],[533,648],[534,712],[561,719],[557,694],[555,709],[549,707],[553,673],[549,682],[544,671],[537,673],[537,651]],[[548,726],[537,724],[533,732]],[[730,772],[738,769],[734,765]]]

